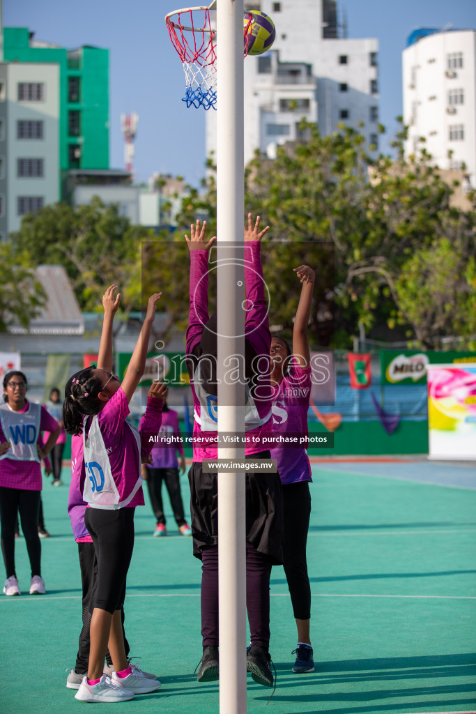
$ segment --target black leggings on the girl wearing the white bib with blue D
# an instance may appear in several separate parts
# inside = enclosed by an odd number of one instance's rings
[[[134,548],[135,508],[86,508],[84,523],[94,543],[98,575],[93,607],[111,615],[126,598],[126,578]]]

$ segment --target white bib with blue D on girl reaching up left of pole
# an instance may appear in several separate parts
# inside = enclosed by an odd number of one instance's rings
[[[102,508],[106,511],[116,511],[118,508],[124,508],[131,503],[137,491],[142,486],[143,478],[141,474],[141,436],[132,424],[125,422],[126,428],[131,429],[137,443],[137,473],[139,477],[133,486],[129,495],[119,501],[119,492],[116,483],[114,483],[111,472],[111,462],[109,455],[104,445],[103,435],[99,428],[97,416],[93,416],[91,428],[89,429],[88,437],[86,438],[86,421],[83,423],[83,454],[84,467],[86,470],[86,478],[84,480],[83,500],[91,506],[91,508]]]

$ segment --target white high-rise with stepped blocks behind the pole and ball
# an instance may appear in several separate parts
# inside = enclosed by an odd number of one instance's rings
[[[273,158],[278,144],[298,139],[303,117],[321,134],[340,122],[355,127],[375,154],[378,40],[340,36],[336,0],[260,0],[245,8],[265,12],[276,29],[273,49],[245,59],[245,164],[255,149]],[[220,61],[219,38],[217,52]],[[216,151],[214,111],[206,116],[206,151]]]

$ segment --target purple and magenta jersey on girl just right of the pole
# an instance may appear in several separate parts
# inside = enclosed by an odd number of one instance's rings
[[[274,388],[273,433],[308,436],[310,386],[310,367],[304,369],[291,359],[288,374]],[[278,463],[281,483],[312,481],[304,446],[283,446],[270,451],[271,458]]]

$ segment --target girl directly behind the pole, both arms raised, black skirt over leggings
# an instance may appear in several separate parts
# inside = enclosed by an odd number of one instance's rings
[[[245,316],[245,378],[247,404],[245,429],[250,436],[248,458],[267,458],[262,439],[271,430],[272,391],[269,383],[270,331],[260,260],[260,218],[253,226],[251,213],[245,228],[245,289],[251,307]],[[202,461],[216,458],[217,446],[217,324],[208,315],[208,251],[215,238],[205,240],[206,223],[191,226],[190,313],[186,338],[195,423],[193,464],[188,473],[191,488],[193,555],[202,561],[201,621],[203,657],[199,682],[218,679],[218,483],[216,473],[203,473]],[[259,389],[253,387],[253,363],[260,359]],[[201,446],[199,446],[199,444]],[[270,569],[282,563],[283,503],[277,473],[246,473],[246,608],[251,645],[246,668],[255,682],[273,686],[270,666]]]

